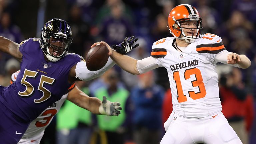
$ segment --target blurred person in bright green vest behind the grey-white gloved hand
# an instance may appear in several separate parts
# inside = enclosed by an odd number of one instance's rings
[[[106,74],[106,73],[105,73]],[[129,91],[124,87],[119,86],[118,73],[111,69],[105,75],[105,84],[94,90],[94,96],[100,97],[106,96],[108,100],[114,100],[121,103],[123,106],[122,114],[116,118],[105,117],[103,115],[96,116],[101,135],[100,141],[108,144],[124,144],[129,137],[127,137],[130,118],[130,102],[129,102]],[[103,138],[102,135],[105,137]],[[130,135],[130,134],[129,134]],[[94,139],[92,141],[95,141]]]

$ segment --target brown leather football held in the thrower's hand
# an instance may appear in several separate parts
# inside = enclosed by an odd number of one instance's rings
[[[108,61],[108,48],[104,44],[99,44],[92,47],[86,57],[85,63],[90,71],[101,69]]]

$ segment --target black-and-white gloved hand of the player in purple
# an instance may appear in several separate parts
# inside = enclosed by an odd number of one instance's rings
[[[138,40],[138,38],[135,38],[134,36],[129,37],[129,38],[126,37],[124,39],[124,41],[122,43],[120,43],[119,45],[113,45],[113,48],[116,52],[118,52],[120,54],[127,54],[132,49],[134,49],[140,45],[140,44],[136,44],[136,45],[132,46],[137,40]]]

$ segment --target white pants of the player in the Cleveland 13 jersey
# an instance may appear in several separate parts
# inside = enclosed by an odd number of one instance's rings
[[[171,114],[160,144],[242,144],[222,113],[200,119]]]

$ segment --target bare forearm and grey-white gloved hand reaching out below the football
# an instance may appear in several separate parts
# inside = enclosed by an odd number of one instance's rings
[[[106,97],[105,97],[106,98]],[[89,97],[84,92],[82,92],[77,86],[75,86],[69,93],[67,99],[79,107],[82,107],[94,114],[104,114],[113,116],[118,116],[122,108],[120,103],[110,102],[103,98],[103,103],[101,100],[95,97]]]

